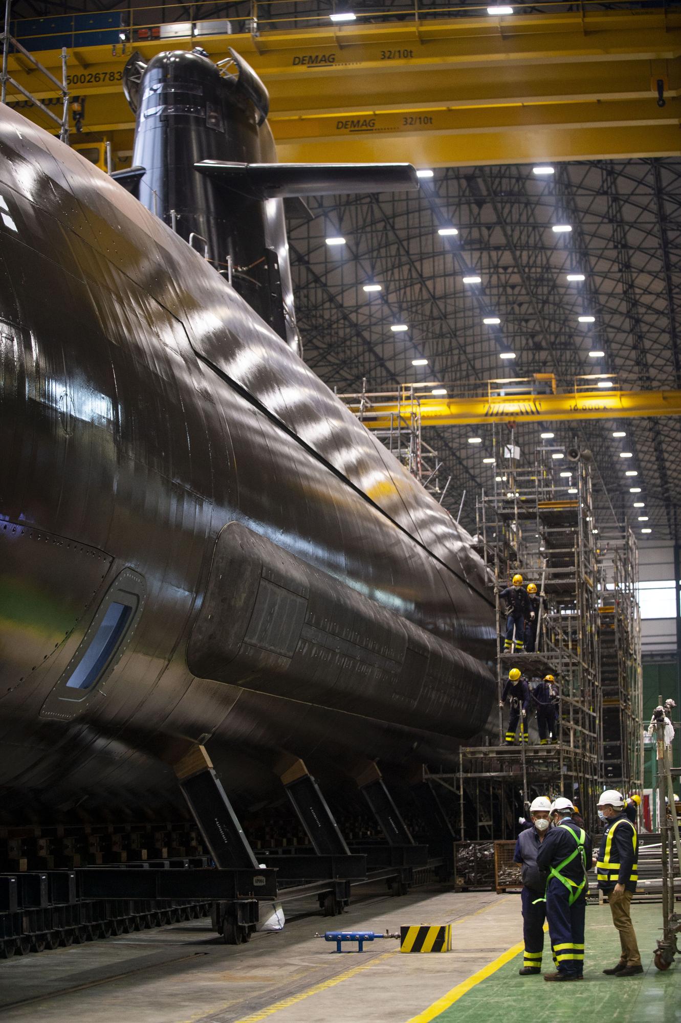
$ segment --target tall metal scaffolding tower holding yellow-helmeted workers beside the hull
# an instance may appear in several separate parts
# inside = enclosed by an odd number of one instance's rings
[[[505,429],[505,428],[502,428]],[[533,684],[551,674],[558,686],[558,714],[550,745],[539,745],[532,712],[529,742],[504,742],[506,708],[499,708],[498,739],[462,747],[459,771],[432,774],[460,801],[461,839],[511,838],[517,816],[535,796],[566,795],[588,827],[602,784],[640,788],[641,675],[636,549],[631,534],[608,546],[609,574],[601,565],[594,518],[589,452],[566,452],[547,440],[521,458],[514,430],[495,430],[496,476],[478,499],[480,550],[494,572],[497,606],[499,700],[508,671],[518,667]],[[501,592],[515,572],[536,582],[540,594],[536,650],[504,650],[506,614]],[[604,579],[609,587],[601,589]],[[606,594],[614,607],[604,604]],[[601,614],[602,611],[602,614]],[[611,615],[607,654],[599,626]],[[602,619],[603,621],[599,621]],[[515,638],[515,637],[514,637]],[[607,718],[603,724],[601,670],[607,662]],[[618,738],[623,739],[619,759]],[[603,745],[604,737],[607,746]]]

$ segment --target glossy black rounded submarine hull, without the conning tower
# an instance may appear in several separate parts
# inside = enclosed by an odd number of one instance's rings
[[[453,757],[495,690],[467,534],[120,185],[6,107],[0,155],[0,817],[164,814],[167,765],[199,740],[244,794],[275,785],[284,751],[339,770]],[[345,690],[227,656],[199,677],[188,650],[226,528],[335,594]],[[243,591],[236,572],[225,623]],[[363,701],[372,608],[389,647],[440,653],[399,692],[372,676]]]

